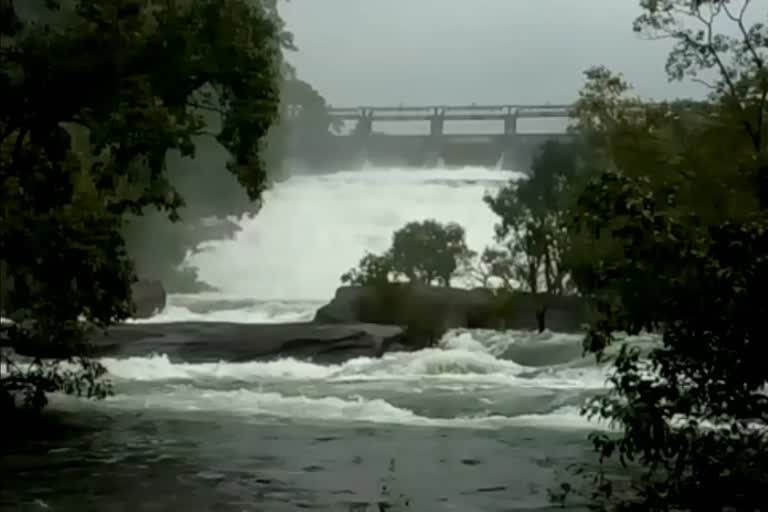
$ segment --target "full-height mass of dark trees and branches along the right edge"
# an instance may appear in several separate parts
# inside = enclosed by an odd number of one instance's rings
[[[719,76],[708,105],[625,101],[620,78],[599,69],[582,96],[604,165],[571,223],[594,242],[591,260],[573,266],[600,312],[585,348],[601,357],[617,331],[661,335],[647,358],[622,345],[612,389],[585,408],[621,430],[591,436],[601,462],[631,468],[630,479],[586,470],[598,510],[765,505],[768,31],[746,26],[749,5],[641,2],[636,29],[674,42],[671,78]],[[715,33],[723,18],[738,36]]]

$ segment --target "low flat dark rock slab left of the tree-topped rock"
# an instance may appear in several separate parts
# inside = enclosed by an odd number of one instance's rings
[[[400,349],[402,337],[403,329],[391,325],[173,322],[123,324],[91,341],[98,355],[111,357],[166,354],[190,363],[294,357],[338,363]]]

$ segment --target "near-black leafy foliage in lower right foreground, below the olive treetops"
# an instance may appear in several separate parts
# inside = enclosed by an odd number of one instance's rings
[[[575,221],[621,241],[624,255],[596,255],[576,270],[602,313],[586,348],[601,354],[616,331],[662,332],[647,359],[620,351],[613,389],[586,412],[618,423],[623,435],[592,439],[603,457],[643,467],[622,507],[754,510],[768,485],[765,432],[750,426],[768,420],[768,352],[759,341],[767,334],[768,222],[763,213],[708,227],[695,214],[672,213],[675,200],[674,190],[660,195],[648,180],[618,172],[581,198]],[[604,489],[610,481],[598,477]]]

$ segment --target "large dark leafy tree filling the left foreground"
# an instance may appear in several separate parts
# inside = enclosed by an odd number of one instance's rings
[[[2,3],[0,26],[0,313],[13,321],[0,342],[32,362],[3,351],[0,395],[41,407],[54,391],[108,391],[86,340],[129,314],[126,215],[178,218],[169,152],[213,136],[252,199],[267,186],[280,31],[257,0],[19,4]]]

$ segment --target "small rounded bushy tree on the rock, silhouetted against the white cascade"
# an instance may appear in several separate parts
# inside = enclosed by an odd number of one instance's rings
[[[431,219],[409,222],[392,235],[389,250],[381,255],[366,254],[341,281],[378,285],[405,279],[411,283],[450,286],[473,256],[460,225]]]

